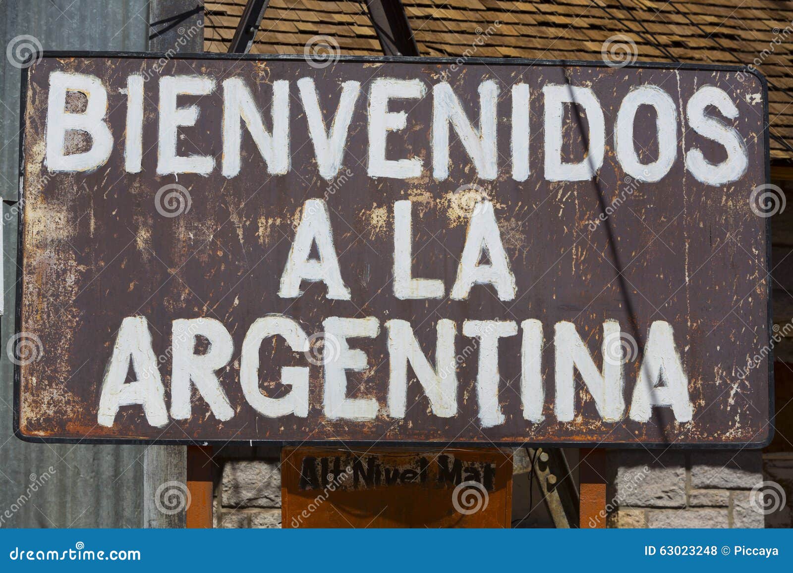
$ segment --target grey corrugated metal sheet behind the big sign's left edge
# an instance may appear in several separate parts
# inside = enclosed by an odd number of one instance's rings
[[[144,51],[147,14],[147,0],[7,0],[0,4],[2,48],[28,35],[44,49]],[[25,40],[33,42],[14,45]],[[8,200],[17,199],[19,86],[19,70],[4,53],[0,193],[6,200],[6,309],[14,308],[17,272],[16,204]],[[143,447],[29,444],[13,437],[13,365],[6,355],[13,312],[0,319],[0,330],[0,527],[140,527]],[[79,369],[73,376],[80,376]]]

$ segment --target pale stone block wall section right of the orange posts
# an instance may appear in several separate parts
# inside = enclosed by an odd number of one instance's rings
[[[761,528],[750,502],[764,481],[757,450],[610,451],[610,527]]]

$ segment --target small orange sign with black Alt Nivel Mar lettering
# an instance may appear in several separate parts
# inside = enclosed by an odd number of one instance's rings
[[[285,528],[511,525],[509,449],[284,448]]]

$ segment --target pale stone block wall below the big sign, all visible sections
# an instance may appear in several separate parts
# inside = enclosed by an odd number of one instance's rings
[[[215,526],[281,527],[280,449],[227,446],[214,459]],[[609,527],[793,526],[790,453],[609,450],[607,472]],[[768,515],[750,501],[752,488],[763,481],[778,483],[787,500]]]

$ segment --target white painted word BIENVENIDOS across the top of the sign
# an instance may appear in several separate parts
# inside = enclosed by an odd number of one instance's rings
[[[436,181],[449,177],[450,132],[458,136],[478,178],[496,179],[500,168],[503,168],[500,164],[506,162],[511,163],[511,178],[515,181],[529,178],[534,166],[529,152],[532,134],[528,84],[515,83],[508,88],[511,97],[510,155],[502,159],[497,151],[497,136],[500,135],[497,104],[504,97],[500,83],[492,79],[482,81],[477,90],[478,105],[463,105],[460,94],[450,83],[428,85],[426,80],[376,78],[369,82],[366,92],[361,82],[340,81],[337,96],[319,93],[313,78],[300,78],[296,82],[274,79],[264,88],[266,97],[255,97],[249,82],[239,77],[226,78],[219,84],[216,79],[205,75],[163,76],[159,78],[156,172],[158,175],[209,175],[219,169],[224,177],[234,178],[241,170],[243,129],[247,129],[266,165],[266,172],[287,174],[292,169],[290,130],[293,122],[305,121],[317,169],[323,178],[331,180],[343,166],[354,117],[366,113],[366,168],[369,176],[418,178],[427,166],[417,151],[414,150],[413,154],[406,152],[402,157],[387,155],[397,155],[391,149],[394,142],[399,141],[399,132],[407,137],[419,125],[412,121],[409,110],[417,101],[431,97],[430,149],[427,154],[430,159],[427,161],[431,163],[431,173]],[[105,118],[108,111],[105,83],[91,74],[52,71],[49,88],[45,158],[48,170],[80,172],[105,165],[114,149],[121,150],[121,145],[114,145],[114,133],[119,137],[119,132],[113,132]],[[128,173],[141,172],[144,149],[154,143],[144,143],[144,118],[152,117],[144,113],[144,102],[151,97],[147,89],[150,88],[145,86],[143,74],[128,75],[123,132],[124,166]],[[67,111],[69,92],[85,95],[85,109],[79,113]],[[328,101],[328,95],[338,101],[332,117],[326,117],[328,114],[320,109],[320,102]],[[737,181],[749,163],[745,140],[729,121],[737,119],[737,105],[730,94],[716,86],[700,86],[688,101],[680,101],[680,106],[684,105],[680,109],[663,86],[634,86],[619,103],[613,125],[611,117],[607,125],[600,101],[590,87],[549,82],[542,87],[541,100],[544,132],[542,174],[547,181],[586,181],[593,178],[603,166],[607,135],[611,134],[612,128],[616,159],[624,172],[637,181],[660,181],[669,173],[678,159],[678,138],[688,129],[709,140],[708,143],[716,142],[723,148],[723,159],[711,162],[697,143],[688,138],[684,165],[697,181],[706,185]],[[588,126],[588,133],[581,134],[582,139],[588,142],[586,157],[573,162],[565,161],[562,154],[565,147],[565,109],[570,104],[583,110]],[[213,155],[179,155],[178,135],[186,130],[192,141],[202,137],[200,134],[205,132],[196,128],[202,108],[215,105],[223,108],[222,131],[210,133],[209,137],[220,139],[220,147],[215,151],[220,159],[216,161]],[[297,106],[299,109],[294,109]],[[658,148],[657,157],[650,162],[642,162],[634,145],[634,123],[637,123],[637,113],[642,106],[649,106],[655,113],[651,130]],[[468,107],[473,109],[466,109]],[[532,110],[531,113],[537,112]],[[644,128],[643,122],[639,123]],[[88,133],[92,140],[90,148],[78,153],[67,152],[70,148],[69,131]]]

